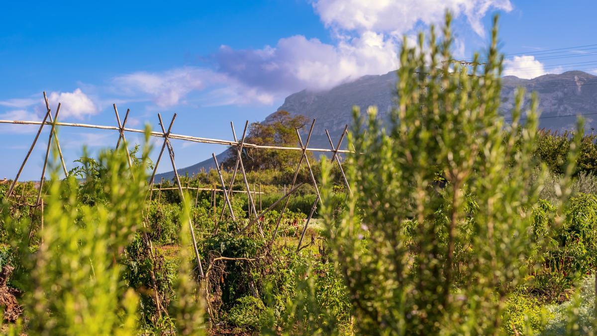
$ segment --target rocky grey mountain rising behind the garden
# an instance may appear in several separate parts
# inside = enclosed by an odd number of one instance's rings
[[[359,106],[366,111],[368,106],[376,105],[380,118],[387,117],[395,99],[396,72],[384,75],[368,75],[355,81],[337,85],[330,90],[303,90],[288,96],[278,111],[285,110],[291,114],[301,114],[310,120],[315,118],[315,127],[309,143],[312,148],[330,148],[325,135],[325,129],[336,143],[345,124],[352,122],[352,106]],[[502,113],[506,118],[514,106],[514,93],[517,87],[527,90],[527,100],[530,92],[536,91],[539,97],[541,111],[540,127],[553,130],[574,129],[577,114],[585,114],[586,129],[597,127],[597,76],[582,71],[568,71],[558,75],[543,75],[525,80],[514,76],[503,77],[501,92]],[[595,113],[594,115],[591,115]],[[573,117],[570,117],[570,116]],[[269,118],[269,117],[268,117]],[[267,120],[267,118],[266,118]],[[308,130],[301,132],[303,141]],[[346,142],[344,142],[346,145]],[[227,151],[218,155],[218,161],[223,161]],[[201,169],[211,169],[213,159],[202,161],[190,167],[179,169],[179,173],[189,175]],[[172,172],[158,175],[172,178]]]

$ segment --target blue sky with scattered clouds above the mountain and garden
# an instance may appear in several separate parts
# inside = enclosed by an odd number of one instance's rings
[[[232,139],[230,121],[239,133],[288,94],[397,68],[401,36],[441,22],[445,6],[456,16],[458,57],[485,48],[499,13],[502,51],[516,54],[507,57],[507,74],[597,68],[597,49],[541,55],[597,44],[597,4],[588,0],[8,2],[0,12],[0,119],[41,120],[45,90],[52,106],[62,103],[60,121],[113,126],[117,103],[121,118],[131,109],[130,127],[155,129],[158,112],[167,120],[177,112],[174,133]],[[35,131],[0,124],[0,179],[14,178]],[[39,179],[47,132],[24,179]],[[116,132],[60,129],[69,167],[82,145],[94,152],[117,139]],[[178,167],[224,149],[173,144]],[[168,170],[162,164],[159,172]]]

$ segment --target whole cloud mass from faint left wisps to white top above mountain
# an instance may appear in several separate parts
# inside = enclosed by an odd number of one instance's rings
[[[213,55],[216,69],[134,72],[113,80],[115,92],[144,96],[161,107],[187,103],[191,93],[193,100],[207,105],[272,104],[293,91],[324,90],[397,69],[402,35],[420,25],[442,23],[446,9],[480,36],[488,11],[512,10],[509,0],[311,1],[333,42],[295,35],[256,49],[223,45]],[[455,48],[463,56],[463,40],[457,39]]]

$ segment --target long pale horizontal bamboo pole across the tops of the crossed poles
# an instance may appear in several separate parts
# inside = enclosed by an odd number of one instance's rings
[[[21,125],[41,125],[42,121],[29,121],[29,120],[0,120],[0,124],[21,124]],[[52,123],[46,121],[45,124],[51,125]],[[56,126],[66,126],[66,127],[84,127],[87,129],[100,129],[100,130],[115,130],[120,132],[120,129],[115,126],[103,126],[103,125],[92,125],[92,124],[78,124],[78,123],[56,123]],[[133,132],[133,133],[145,133],[144,130],[139,129],[123,129],[125,132]],[[157,138],[164,138],[164,134],[161,132],[151,132],[151,136],[155,136]],[[179,135],[179,134],[170,134],[168,136],[169,139],[179,139],[179,140],[186,140],[191,142],[201,142],[201,143],[215,143],[217,145],[226,145],[226,146],[238,146],[240,142],[238,141],[230,141],[230,140],[220,140],[220,139],[209,139],[209,138],[199,138],[197,136],[189,136],[189,135]],[[268,145],[255,145],[254,143],[243,143],[244,147],[250,148],[262,148],[262,149],[282,149],[288,151],[302,151],[303,148],[300,147],[283,147],[283,146],[268,146]],[[325,148],[307,148],[307,151],[312,152],[336,152],[333,149],[325,149]],[[348,151],[346,149],[338,150],[338,153],[351,153],[353,151]]]

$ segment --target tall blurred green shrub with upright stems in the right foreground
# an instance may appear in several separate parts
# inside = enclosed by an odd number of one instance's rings
[[[519,91],[504,124],[497,29],[483,67],[478,55],[470,69],[441,62],[452,59],[451,42],[449,16],[441,41],[432,28],[428,46],[423,34],[416,48],[404,42],[387,129],[376,109],[365,118],[355,111],[349,141],[359,154],[347,159],[353,194],[341,213],[323,165],[330,256],[358,333],[499,333],[509,328],[507,298],[542,249],[528,230],[545,175],[531,179],[537,101],[519,124]]]

